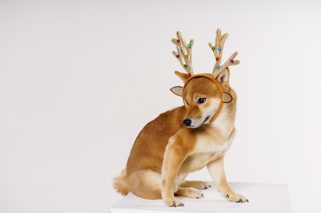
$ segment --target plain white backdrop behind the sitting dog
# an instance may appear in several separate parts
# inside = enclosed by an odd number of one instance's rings
[[[241,61],[228,181],[288,184],[293,213],[318,212],[320,11],[317,0],[1,1],[0,212],[108,212],[139,131],[183,104],[169,91],[183,85],[171,38],[193,38],[195,73],[211,72],[216,28]]]

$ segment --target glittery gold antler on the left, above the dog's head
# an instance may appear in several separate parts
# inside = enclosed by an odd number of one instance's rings
[[[187,44],[180,34],[179,31],[176,32],[177,38],[172,38],[172,42],[176,45],[177,53],[173,51],[173,55],[180,62],[180,65],[185,69],[189,76],[193,76],[192,68],[192,46],[194,40],[191,39],[189,44]]]

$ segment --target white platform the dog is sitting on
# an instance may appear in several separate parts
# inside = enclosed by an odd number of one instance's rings
[[[229,183],[235,193],[243,194],[248,203],[227,201],[211,181],[207,190],[201,190],[204,197],[190,199],[179,197],[184,207],[167,207],[163,200],[146,200],[132,193],[110,208],[110,213],[169,213],[169,212],[198,212],[198,213],[290,213],[288,186],[285,184],[262,183]]]

